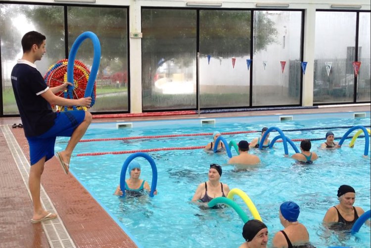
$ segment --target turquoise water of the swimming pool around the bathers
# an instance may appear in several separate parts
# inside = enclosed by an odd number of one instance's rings
[[[116,129],[116,123],[93,124],[83,139],[160,136],[169,134],[196,134],[261,130],[263,126],[295,129],[308,127],[340,127],[370,125],[367,118],[338,118],[341,115],[295,116],[294,121],[279,122],[277,116],[217,118],[214,125],[201,125],[200,120],[136,122],[134,128]],[[297,117],[297,118],[296,118]],[[325,117],[325,118],[321,118]],[[336,117],[336,118],[335,118]],[[348,129],[331,129],[335,137],[341,137]],[[290,139],[324,138],[326,130],[285,132]],[[354,135],[354,133],[352,133]],[[278,133],[271,133],[273,139]],[[245,139],[251,141],[258,133],[225,135],[227,141]],[[101,151],[129,151],[161,147],[204,146],[211,136],[174,137],[162,139],[135,139],[125,141],[81,142],[74,155]],[[61,150],[67,139],[58,139],[56,149]],[[352,185],[357,193],[356,206],[370,209],[370,157],[363,158],[364,138],[358,138],[355,148],[344,142],[341,149],[324,151],[317,147],[323,141],[312,142],[312,151],[320,158],[313,165],[302,166],[283,156],[282,143],[271,150],[256,150],[262,165],[250,171],[236,172],[233,166],[223,167],[221,181],[230,188],[246,192],[258,209],[270,232],[282,227],[278,219],[278,207],[286,200],[299,204],[299,221],[309,231],[311,242],[318,248],[330,245],[370,247],[370,227],[363,226],[356,236],[336,235],[322,227],[326,210],[337,204],[339,185]],[[295,142],[295,144],[299,144]],[[289,153],[293,150],[289,147]],[[119,199],[113,195],[119,184],[121,167],[130,154],[102,156],[74,156],[71,172],[97,201],[114,216],[129,233],[138,240],[140,247],[206,247],[235,248],[243,243],[242,220],[232,208],[200,210],[190,203],[197,185],[207,180],[210,163],[226,164],[227,154],[207,154],[202,149],[167,150],[149,153],[158,169],[158,195],[153,198]],[[232,154],[236,153],[232,151]],[[370,155],[370,154],[369,154]],[[346,159],[340,160],[340,157]],[[138,158],[142,165],[141,178],[151,180],[149,164]],[[235,198],[248,216],[243,201]]]

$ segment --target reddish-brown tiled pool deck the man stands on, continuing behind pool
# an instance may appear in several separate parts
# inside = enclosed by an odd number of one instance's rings
[[[146,116],[93,119],[93,122],[160,119],[237,117],[276,114],[365,112],[370,106],[284,109],[199,115]],[[29,150],[19,117],[0,118],[0,247],[6,248],[135,248],[135,243],[71,174],[65,175],[57,160],[46,162],[42,176],[43,202],[58,218],[32,224],[28,190]],[[73,158],[72,158],[73,159]],[[111,192],[107,192],[110,194]],[[52,229],[52,230],[51,230]],[[55,236],[54,233],[59,234]],[[140,240],[139,240],[140,242]]]

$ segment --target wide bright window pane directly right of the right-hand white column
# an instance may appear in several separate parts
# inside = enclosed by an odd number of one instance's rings
[[[355,12],[316,13],[315,104],[353,102],[356,18]]]

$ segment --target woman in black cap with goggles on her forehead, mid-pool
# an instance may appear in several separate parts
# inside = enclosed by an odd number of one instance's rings
[[[211,164],[209,169],[209,180],[198,185],[192,201],[208,203],[216,197],[227,197],[230,188],[226,183],[220,182],[222,167],[218,164]]]

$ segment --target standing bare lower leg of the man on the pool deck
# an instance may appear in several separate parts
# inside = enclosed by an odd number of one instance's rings
[[[41,188],[40,181],[41,175],[43,174],[44,171],[44,165],[45,157],[43,157],[36,164],[33,164],[31,166],[30,175],[28,177],[28,186],[30,188],[32,202],[34,204],[34,215],[32,216],[32,219],[34,220],[39,220],[48,214],[46,210],[43,209],[40,200],[40,188]],[[54,213],[51,216],[56,216],[56,214]]]

